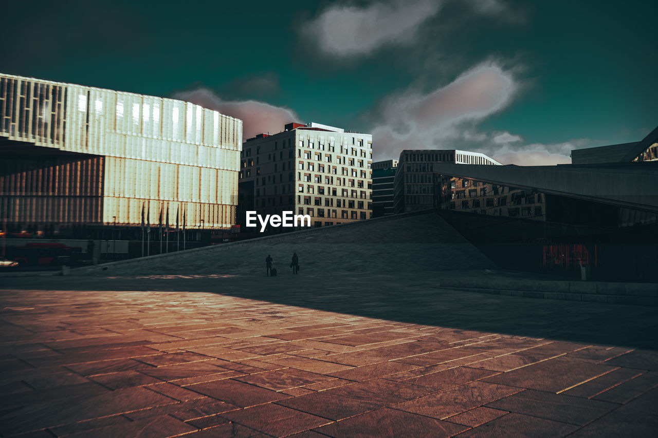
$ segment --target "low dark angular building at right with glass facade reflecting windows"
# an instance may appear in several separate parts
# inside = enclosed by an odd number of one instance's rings
[[[657,281],[658,128],[628,144],[572,151],[588,163],[435,165],[437,211],[505,268]]]

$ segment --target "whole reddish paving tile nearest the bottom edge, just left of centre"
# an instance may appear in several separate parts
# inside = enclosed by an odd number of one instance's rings
[[[291,435],[331,423],[331,420],[326,418],[272,403],[228,412],[221,416],[275,437]]]

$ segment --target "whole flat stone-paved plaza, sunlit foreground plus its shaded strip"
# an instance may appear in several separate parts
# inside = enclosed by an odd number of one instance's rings
[[[657,434],[657,308],[303,274],[3,278],[0,434]]]

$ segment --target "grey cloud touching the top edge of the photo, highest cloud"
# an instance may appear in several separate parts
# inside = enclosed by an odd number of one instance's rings
[[[413,41],[420,25],[442,6],[438,0],[378,1],[366,7],[331,6],[302,27],[302,36],[332,55],[368,54],[382,45]]]

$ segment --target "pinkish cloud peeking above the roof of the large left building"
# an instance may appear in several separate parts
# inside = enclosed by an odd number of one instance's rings
[[[180,91],[174,93],[172,97],[239,118],[243,122],[243,139],[261,134],[261,132],[281,132],[284,124],[299,122],[299,116],[291,109],[275,107],[269,103],[254,100],[225,101],[207,88]]]

